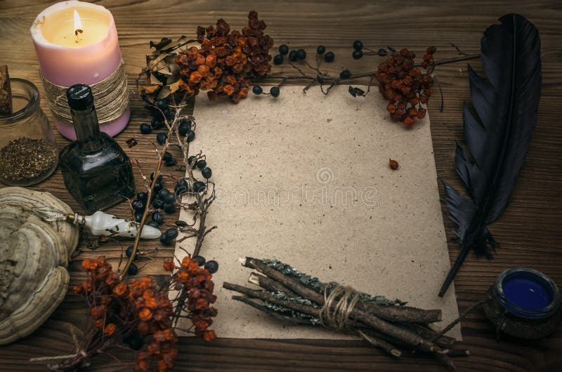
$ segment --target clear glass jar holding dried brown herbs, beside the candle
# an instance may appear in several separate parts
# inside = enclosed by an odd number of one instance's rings
[[[11,113],[0,114],[0,182],[30,186],[48,178],[58,164],[53,130],[39,106],[37,86],[10,79]]]

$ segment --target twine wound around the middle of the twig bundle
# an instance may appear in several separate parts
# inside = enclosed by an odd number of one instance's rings
[[[324,288],[324,306],[320,310],[320,324],[338,331],[348,328],[349,316],[358,301],[359,292],[351,286],[330,283]]]

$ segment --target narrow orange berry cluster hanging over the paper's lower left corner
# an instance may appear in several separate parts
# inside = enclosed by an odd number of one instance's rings
[[[216,301],[216,295],[213,294],[215,285],[211,280],[212,274],[200,265],[200,262],[189,257],[183,258],[180,267],[176,267],[171,259],[164,260],[164,269],[169,272],[177,270],[172,274],[172,287],[178,290],[184,288],[188,293],[182,312],[191,319],[195,336],[211,341],[216,338],[215,331],[209,329],[213,324],[212,318],[217,314],[211,306]]]

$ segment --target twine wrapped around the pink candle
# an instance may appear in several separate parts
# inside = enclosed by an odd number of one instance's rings
[[[66,98],[68,87],[53,84],[43,76],[41,71],[39,71],[39,75],[41,76],[41,81],[43,81],[47,102],[53,114],[72,122]],[[127,77],[123,64],[120,64],[109,77],[96,84],[92,84],[90,88],[93,93],[100,124],[119,118],[129,106],[129,91],[127,90]]]

